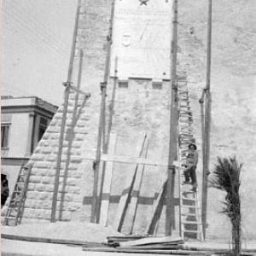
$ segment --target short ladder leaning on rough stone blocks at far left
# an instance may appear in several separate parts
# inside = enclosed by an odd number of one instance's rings
[[[21,212],[26,199],[28,179],[32,166],[21,166],[15,183],[15,189],[9,201],[9,206],[3,220],[3,225],[15,226],[20,223]]]

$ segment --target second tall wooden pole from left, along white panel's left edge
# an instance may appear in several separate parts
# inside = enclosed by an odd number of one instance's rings
[[[94,170],[94,180],[93,180],[93,191],[92,191],[92,204],[91,204],[91,215],[90,222],[95,223],[99,219],[99,207],[98,198],[97,198],[97,190],[98,190],[98,179],[99,179],[99,171],[100,171],[100,161],[101,161],[101,149],[102,149],[102,137],[105,142],[105,134],[102,136],[102,132],[105,131],[105,105],[106,105],[106,96],[107,96],[107,84],[108,84],[108,75],[109,75],[109,67],[110,67],[110,54],[111,54],[111,44],[112,44],[112,31],[113,31],[113,14],[114,14],[114,0],[112,1],[111,6],[111,15],[109,20],[109,30],[107,37],[107,56],[105,61],[105,71],[103,82],[101,83],[102,90],[102,101],[101,101],[101,110],[100,110],[100,119],[98,126],[98,136],[97,136],[97,146],[96,146],[96,160],[93,163]]]

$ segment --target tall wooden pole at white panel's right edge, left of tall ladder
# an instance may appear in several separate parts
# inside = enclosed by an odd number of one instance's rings
[[[170,143],[168,159],[168,179],[166,186],[166,236],[172,235],[174,227],[174,184],[175,166],[177,158],[177,0],[172,3],[172,45],[171,45],[171,117],[170,117]]]

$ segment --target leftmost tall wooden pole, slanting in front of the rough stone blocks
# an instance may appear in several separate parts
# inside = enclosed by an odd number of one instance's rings
[[[68,107],[68,98],[70,93],[70,84],[71,84],[72,74],[73,74],[73,60],[75,55],[76,39],[78,35],[80,7],[81,7],[81,0],[79,0],[78,7],[77,7],[76,20],[75,20],[75,25],[73,30],[73,44],[71,48],[69,67],[68,67],[68,73],[67,73],[67,82],[65,83],[66,89],[64,94],[64,105],[63,105],[63,113],[62,113],[62,119],[61,119],[61,131],[60,131],[58,154],[57,154],[57,160],[56,160],[55,187],[54,187],[54,192],[52,197],[50,222],[55,222],[55,212],[56,212],[56,206],[57,206],[57,197],[58,197],[59,180],[60,180],[60,172],[61,172],[61,154],[62,154],[64,132],[65,132],[66,119],[67,119],[67,107]]]

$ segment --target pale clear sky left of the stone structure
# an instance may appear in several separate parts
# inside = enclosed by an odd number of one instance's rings
[[[76,0],[3,0],[1,95],[63,102]]]

